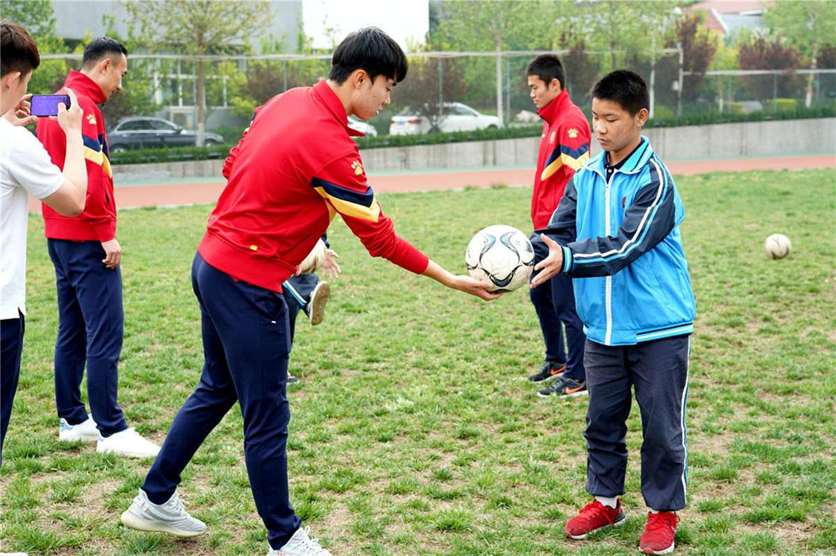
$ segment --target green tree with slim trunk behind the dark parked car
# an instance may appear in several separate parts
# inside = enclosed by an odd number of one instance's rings
[[[166,45],[176,53],[198,57],[233,53],[237,40],[267,28],[271,23],[268,2],[230,0],[123,0],[132,22],[148,44]],[[197,144],[206,129],[206,59],[197,58]]]

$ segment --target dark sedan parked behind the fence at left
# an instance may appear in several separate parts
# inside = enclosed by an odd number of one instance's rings
[[[223,137],[205,132],[206,145],[223,144]],[[124,153],[129,149],[157,147],[186,147],[197,144],[197,132],[185,129],[167,119],[130,116],[119,120],[107,134],[111,153]]]

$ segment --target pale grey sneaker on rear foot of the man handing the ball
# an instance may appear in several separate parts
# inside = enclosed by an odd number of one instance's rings
[[[132,529],[151,533],[171,533],[178,537],[195,537],[206,531],[206,523],[192,518],[183,501],[174,493],[164,504],[155,504],[140,488],[130,508],[122,513],[122,523]]]

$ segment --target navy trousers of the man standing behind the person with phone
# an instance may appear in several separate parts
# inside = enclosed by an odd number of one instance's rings
[[[99,241],[48,239],[55,267],[59,325],[55,341],[55,406],[70,425],[87,420],[81,381],[87,366],[90,412],[103,436],[128,428],[117,402],[125,316],[120,267],[104,266]]]

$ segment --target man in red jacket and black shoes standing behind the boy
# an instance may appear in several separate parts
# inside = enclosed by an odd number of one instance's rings
[[[535,232],[531,235],[534,263],[548,256],[537,230],[545,228],[563,197],[566,182],[589,159],[589,122],[572,104],[566,92],[566,73],[560,59],[553,54],[534,58],[526,68],[531,98],[538,108],[543,124],[531,219]],[[535,272],[532,278],[536,276]],[[546,343],[546,361],[540,371],[528,380],[554,381],[538,392],[540,397],[578,397],[587,393],[584,372],[584,326],[574,308],[572,281],[560,275],[531,290],[531,301],[540,321]],[[566,347],[563,346],[563,326]]]

